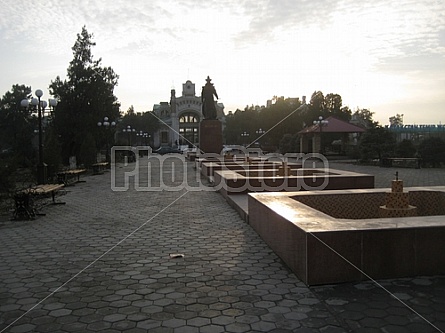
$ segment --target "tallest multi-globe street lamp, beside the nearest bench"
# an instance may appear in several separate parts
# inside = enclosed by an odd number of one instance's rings
[[[46,101],[41,100],[40,98],[43,96],[43,91],[37,89],[35,91],[37,98],[31,99],[31,105],[34,107],[37,106],[37,119],[39,122],[39,163],[37,164],[37,183],[46,184],[46,164],[43,162],[43,131],[42,131],[42,114],[45,112],[45,108],[48,106]],[[57,100],[49,99],[49,106],[54,108],[57,105]],[[23,99],[20,102],[20,105],[24,108],[29,107],[29,100]]]

